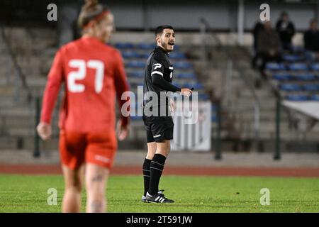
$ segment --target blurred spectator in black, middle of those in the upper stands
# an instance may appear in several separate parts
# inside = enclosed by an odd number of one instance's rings
[[[276,23],[276,32],[279,34],[282,48],[291,50],[291,40],[295,34],[295,26],[289,21],[288,13],[281,13],[281,17]]]

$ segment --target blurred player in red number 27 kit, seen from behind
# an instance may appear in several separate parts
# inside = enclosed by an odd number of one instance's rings
[[[87,1],[78,19],[83,35],[62,46],[47,79],[38,134],[51,135],[51,117],[62,83],[60,157],[65,177],[63,212],[79,212],[85,176],[86,211],[106,211],[106,182],[117,150],[115,99],[120,107],[128,83],[120,52],[105,43],[113,32],[113,15],[98,1]],[[121,114],[118,139],[128,135],[128,118]],[[85,167],[85,168],[84,168]],[[85,172],[85,175],[84,175]]]

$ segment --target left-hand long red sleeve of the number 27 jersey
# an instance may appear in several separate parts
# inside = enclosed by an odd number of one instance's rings
[[[47,76],[47,84],[43,94],[42,111],[40,121],[51,123],[52,112],[55,107],[57,95],[59,94],[61,84],[64,78],[64,70],[62,64],[62,51],[61,49],[55,55],[52,67]]]

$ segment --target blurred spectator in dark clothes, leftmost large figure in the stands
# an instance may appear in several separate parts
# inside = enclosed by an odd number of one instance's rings
[[[281,42],[279,35],[272,28],[272,22],[264,23],[264,30],[260,31],[257,40],[257,58],[262,59],[259,69],[264,72],[266,63],[269,61],[281,61]]]

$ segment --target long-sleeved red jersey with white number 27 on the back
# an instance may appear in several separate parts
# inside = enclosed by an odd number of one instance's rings
[[[80,38],[62,46],[48,75],[42,122],[50,123],[62,83],[65,100],[60,111],[60,128],[81,133],[114,128],[116,96],[121,107],[125,103],[121,95],[129,89],[118,50],[96,38]],[[128,123],[128,117],[121,114],[121,118]]]

